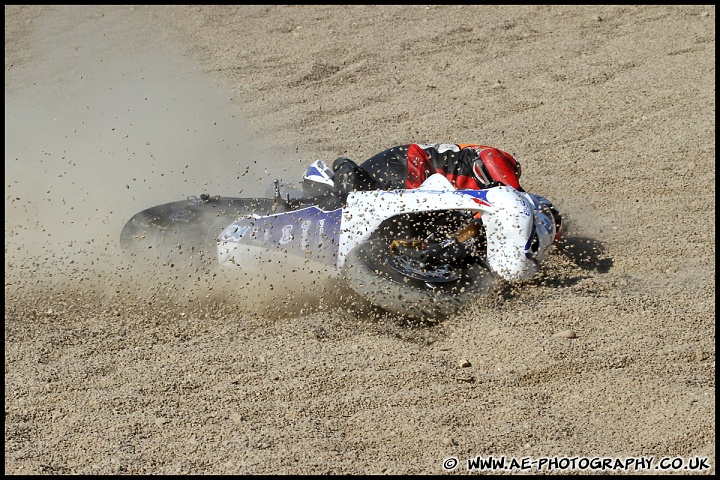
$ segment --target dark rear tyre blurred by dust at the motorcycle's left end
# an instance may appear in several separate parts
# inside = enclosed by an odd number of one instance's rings
[[[208,267],[217,262],[216,239],[243,215],[272,213],[269,198],[191,198],[148,208],[122,229],[123,252],[154,265]]]

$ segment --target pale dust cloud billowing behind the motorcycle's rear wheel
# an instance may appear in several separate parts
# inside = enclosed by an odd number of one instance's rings
[[[202,193],[264,196],[274,178],[301,169],[250,132],[228,89],[136,15],[58,7],[27,52],[37,61],[6,76],[6,290],[165,292],[189,302],[258,301],[270,289],[292,296],[301,284],[280,266],[252,282],[224,273],[219,283],[216,269],[141,265],[120,251],[120,231],[138,211]]]

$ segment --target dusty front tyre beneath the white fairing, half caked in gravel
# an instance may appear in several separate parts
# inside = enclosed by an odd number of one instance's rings
[[[496,285],[481,264],[460,267],[450,282],[421,282],[402,278],[389,263],[390,239],[380,237],[350,251],[343,265],[343,279],[355,293],[383,310],[407,317],[441,320],[455,315],[472,299],[486,295]]]

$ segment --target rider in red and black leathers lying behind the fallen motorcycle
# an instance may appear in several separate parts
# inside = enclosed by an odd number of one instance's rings
[[[344,198],[355,190],[392,190],[419,187],[434,173],[445,176],[456,189],[480,190],[506,185],[523,192],[520,163],[507,152],[480,144],[412,143],[388,148],[358,165],[347,157],[333,162],[332,170],[316,160],[303,177],[307,196]],[[549,203],[549,202],[548,202]],[[560,237],[561,218],[550,206]],[[474,218],[465,228],[440,244],[441,250],[458,246],[477,235],[482,222]]]

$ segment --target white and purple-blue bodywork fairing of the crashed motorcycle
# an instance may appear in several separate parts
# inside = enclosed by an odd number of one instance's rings
[[[246,266],[268,250],[305,257],[340,271],[350,250],[367,241],[386,220],[405,213],[442,210],[478,212],[486,231],[485,263],[499,277],[535,276],[547,255],[555,226],[542,208],[543,197],[498,186],[455,190],[442,175],[431,175],[416,189],[356,191],[342,209],[318,207],[241,218],[218,238],[222,265]]]

